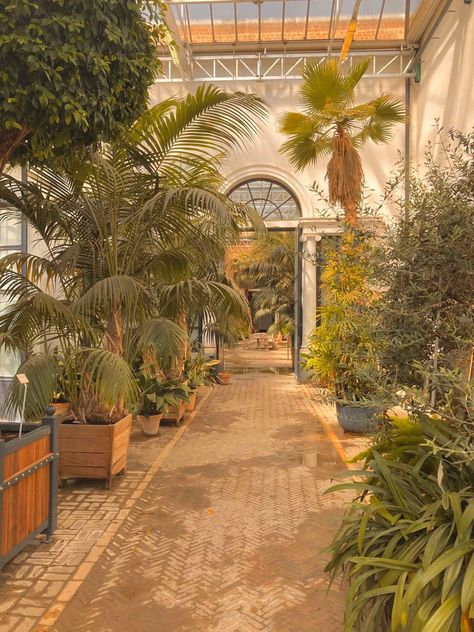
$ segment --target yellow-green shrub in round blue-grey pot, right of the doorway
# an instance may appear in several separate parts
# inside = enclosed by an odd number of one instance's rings
[[[329,252],[322,274],[326,303],[311,335],[305,369],[323,382],[336,402],[346,432],[368,432],[383,409],[379,352],[383,340],[373,306],[378,292],[370,285],[373,246],[370,236],[347,230]]]

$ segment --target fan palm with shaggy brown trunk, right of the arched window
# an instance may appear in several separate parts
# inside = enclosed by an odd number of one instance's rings
[[[299,99],[303,112],[287,112],[280,123],[288,136],[281,152],[296,169],[330,156],[329,201],[340,204],[351,225],[358,223],[364,177],[358,150],[368,141],[387,143],[393,125],[405,116],[402,103],[386,94],[355,105],[356,86],[368,65],[369,60],[355,64],[347,74],[333,59],[307,65]]]

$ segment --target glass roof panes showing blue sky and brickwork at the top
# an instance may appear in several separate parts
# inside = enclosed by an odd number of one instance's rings
[[[171,0],[189,44],[344,39],[356,0]],[[406,39],[421,0],[362,0],[354,41]]]

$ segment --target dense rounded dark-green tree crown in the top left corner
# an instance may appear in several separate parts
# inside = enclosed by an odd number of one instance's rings
[[[0,171],[110,141],[143,112],[166,27],[151,0],[6,0],[0,7]]]

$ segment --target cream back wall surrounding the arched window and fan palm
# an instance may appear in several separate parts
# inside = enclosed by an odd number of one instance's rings
[[[219,85],[219,84],[218,84]],[[288,159],[279,153],[279,148],[285,140],[278,132],[278,120],[283,112],[299,109],[298,88],[300,82],[294,80],[280,81],[245,81],[223,82],[220,84],[225,90],[240,90],[254,92],[264,98],[270,106],[270,118],[265,125],[260,138],[254,145],[249,145],[243,152],[229,157],[226,166],[226,177],[230,185],[239,181],[259,176],[270,176],[287,184],[296,194],[305,217],[317,215],[321,207],[319,199],[310,192],[310,187],[316,180],[320,187],[326,189],[326,165],[322,161],[314,168],[297,173]],[[172,95],[184,95],[187,90],[195,89],[196,84],[156,84],[152,91],[151,102],[156,103]],[[396,98],[404,100],[405,88],[402,79],[364,79],[359,91],[360,100],[368,100],[382,92],[389,92]],[[397,160],[397,153],[403,152],[403,125],[394,130],[393,142],[389,145],[371,145],[362,152],[362,159],[366,174],[367,187],[375,189],[375,196],[383,190],[384,184],[390,177],[390,172]]]

